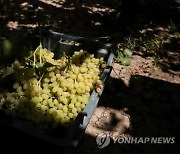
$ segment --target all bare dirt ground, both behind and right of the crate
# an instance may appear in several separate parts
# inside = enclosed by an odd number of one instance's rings
[[[37,21],[39,21],[45,30],[53,29],[95,40],[110,41],[114,44],[118,43],[117,35],[133,36],[143,30],[154,31],[157,27],[166,29],[168,27],[165,24],[166,20],[169,22],[169,19],[172,19],[175,22],[176,11],[179,11],[174,1],[172,5],[169,5],[171,7],[162,6],[160,12],[159,8],[153,8],[155,16],[149,14],[147,7],[145,17],[142,17],[147,19],[146,21],[136,21],[134,24],[131,23],[134,21],[131,21],[127,25],[128,21],[124,23],[124,20],[121,21],[119,18],[121,8],[117,1],[111,3],[101,0],[96,2],[93,0],[91,2],[86,0],[39,0],[37,2],[20,0],[8,1],[8,3],[1,1],[0,4],[2,8],[1,39],[9,35],[21,36],[25,32],[38,30]],[[166,9],[169,11],[168,16],[166,16]],[[138,19],[140,17],[138,16]],[[178,40],[179,33],[176,33],[176,36],[169,34],[168,37],[170,37],[169,40]],[[177,154],[180,152],[177,146],[178,136],[180,136],[179,42],[175,45],[177,46],[175,49],[171,46],[168,48],[166,55],[170,56],[165,56],[165,60],[161,59],[160,65],[154,65],[152,56],[138,54],[140,51],[134,52],[130,66],[113,63],[106,88],[78,144],[76,153]],[[166,69],[161,64],[165,64]],[[102,149],[98,148],[96,143],[96,136],[100,133],[108,133],[111,136],[111,144]],[[122,135],[175,137],[175,144],[114,144],[112,142],[113,137]]]

